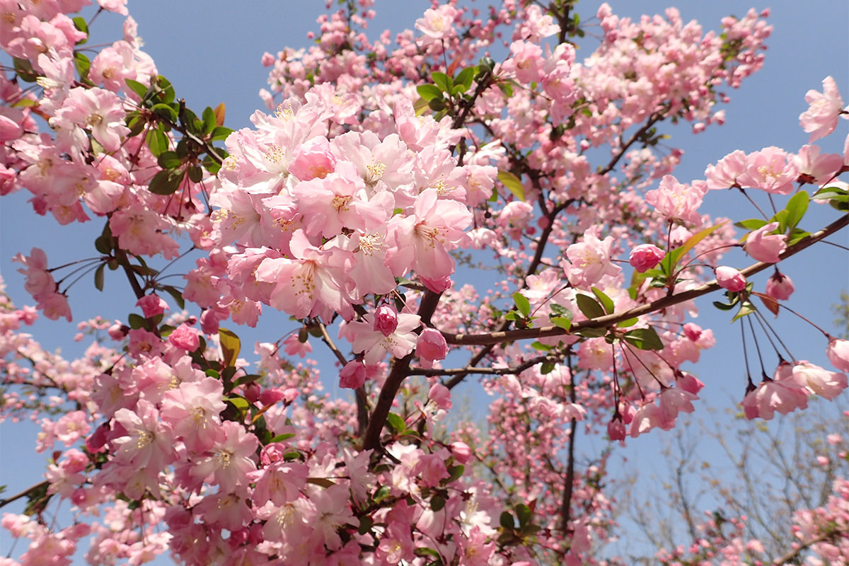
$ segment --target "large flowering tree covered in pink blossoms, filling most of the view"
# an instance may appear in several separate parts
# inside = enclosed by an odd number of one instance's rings
[[[0,194],[102,226],[88,259],[22,249],[35,305],[3,295],[3,418],[39,423],[50,462],[0,501],[26,500],[2,525],[29,541],[0,564],[70,563],[83,540],[92,564],[616,563],[593,552],[615,527],[610,451],[579,462],[577,437],[694,412],[688,362],[724,338],[695,299],[724,292],[742,334],[745,417],[846,389],[849,342],[785,304],[810,289],[778,267],[849,223],[849,145],[812,145],[847,115],[834,79],[805,97],[801,148],[734,151],[681,182],[661,143],[722,123],[768,11],[705,31],[674,8],[434,3],[374,38],[371,2],[342,3],[312,48],[263,55],[267,109],[233,131],[160,76],[124,2],[76,15],[88,4],[0,3]],[[89,56],[103,12],[123,36]],[[588,20],[601,35],[580,60]],[[700,210],[715,191],[733,218]],[[807,225],[812,203],[835,209],[826,225]],[[72,320],[92,279],[134,298],[80,322],[83,356],[25,332]],[[767,312],[822,333],[832,368],[791,355]],[[471,382],[486,425],[454,408]],[[835,479],[799,510],[800,544],[845,520],[846,493]],[[59,507],[67,524],[48,520]]]

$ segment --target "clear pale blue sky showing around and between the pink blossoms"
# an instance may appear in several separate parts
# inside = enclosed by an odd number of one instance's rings
[[[618,0],[611,1],[610,5],[615,14],[638,17],[643,13],[662,12],[668,3]],[[425,0],[379,0],[375,6],[379,16],[370,31],[376,36],[386,27],[392,31],[412,27],[414,20],[429,6],[430,2]],[[284,46],[308,45],[306,31],[318,29],[314,20],[323,9],[323,2],[131,0],[129,8],[145,40],[144,50],[155,59],[160,73],[174,84],[178,96],[187,99],[189,108],[199,111],[206,105],[224,102],[228,126],[238,128],[250,126],[250,114],[262,108],[257,92],[266,86],[267,69],[260,64],[261,54],[265,51],[276,53]],[[748,8],[749,4],[738,0],[679,3],[683,20],[699,20],[706,29],[715,29],[722,16],[742,15]],[[595,9],[596,3],[588,1],[577,6],[582,20],[593,16]],[[774,31],[767,42],[766,64],[763,70],[745,81],[739,91],[731,92],[732,102],[726,106],[727,123],[711,126],[697,137],[691,136],[687,128],[672,131],[669,143],[686,152],[676,171],[680,180],[702,178],[708,163],[734,149],[753,151],[776,145],[792,151],[806,143],[807,134],[798,126],[798,115],[807,108],[804,95],[810,88],[821,89],[820,83],[827,75],[835,77],[849,102],[849,40],[846,38],[849,3],[816,0],[802,5],[781,0],[772,3],[769,21]],[[93,42],[114,41],[120,36],[120,25],[118,16],[102,14],[93,25]],[[579,59],[591,52],[590,42],[585,45],[578,52]],[[842,122],[841,127],[846,132],[846,122]],[[824,145],[825,150],[836,152],[842,148],[842,138],[825,141],[830,142]],[[724,192],[711,193],[708,210],[716,215],[738,216],[744,203],[730,196]],[[17,264],[9,261],[12,255],[18,251],[28,253],[32,246],[38,246],[47,251],[52,265],[96,255],[92,243],[102,227],[102,221],[95,220],[87,226],[59,230],[52,219],[35,216],[26,198],[25,193],[16,193],[0,199],[0,271],[6,280],[8,294],[19,305],[29,302],[30,298],[23,291],[23,278],[15,272]],[[802,227],[821,226],[817,218],[823,215],[815,214],[817,212],[823,210],[812,206],[811,217],[803,221]],[[835,241],[849,244],[847,239],[844,231]],[[188,267],[184,266],[183,271]],[[781,267],[799,289],[790,305],[830,328],[833,316],[829,305],[841,289],[849,288],[846,253],[820,245],[801,257],[782,263]],[[756,286],[762,286],[765,277],[756,279]],[[50,347],[76,351],[79,346],[70,339],[76,333],[76,321],[95,314],[126,318],[127,305],[132,304],[126,283],[119,277],[107,277],[106,287],[106,294],[98,294],[87,281],[75,286],[70,294],[75,322],[39,324],[34,331],[37,338]],[[728,406],[729,400],[739,400],[744,387],[739,334],[737,328],[734,333],[728,332],[728,317],[712,309],[710,301],[703,301],[700,306],[699,322],[714,329],[717,347],[706,352],[703,363],[694,368],[694,373],[709,388],[697,408],[709,404]],[[796,356],[826,363],[825,343],[817,333],[786,315],[779,319],[779,328],[784,338],[794,345]],[[278,335],[268,337],[277,338]],[[244,342],[246,354],[250,354],[247,345],[252,341]],[[0,430],[0,453],[3,454],[0,484],[8,484],[7,493],[35,483],[44,462],[42,455],[35,455],[31,450],[34,427],[25,426],[23,430],[15,427],[12,423],[4,423]],[[636,441],[629,440],[630,465],[649,473],[655,465],[660,440],[662,434],[658,432]],[[14,468],[9,465],[12,461]],[[18,512],[20,507],[12,510]],[[8,538],[4,533],[0,534],[0,550],[3,554],[8,552]]]

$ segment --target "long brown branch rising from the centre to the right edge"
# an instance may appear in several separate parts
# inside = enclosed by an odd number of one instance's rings
[[[841,230],[841,228],[844,228],[847,225],[849,225],[849,216],[841,216],[837,220],[831,222],[827,227],[824,227],[819,232],[812,233],[806,238],[802,238],[799,242],[796,242],[796,244],[788,246],[787,249],[784,250],[784,253],[779,255],[780,260],[785,260],[791,255],[798,254],[802,249],[806,249],[809,246],[816,244],[823,238],[828,238],[831,234],[837,232],[838,230]],[[744,277],[750,277],[751,275],[762,272],[763,270],[773,265],[773,263],[765,263],[763,261],[758,261],[757,263],[754,263],[751,266],[740,270],[740,272],[744,275]],[[621,322],[633,317],[641,317],[652,312],[661,311],[663,309],[666,309],[667,307],[678,305],[687,300],[696,299],[697,297],[712,293],[713,291],[717,291],[718,289],[721,289],[721,287],[717,283],[716,279],[714,279],[710,283],[705,283],[703,285],[700,285],[699,287],[696,287],[694,289],[688,289],[678,294],[667,295],[665,297],[662,297],[661,299],[653,300],[650,303],[640,305],[629,311],[618,313],[615,312],[610,315],[604,315],[604,317],[597,317],[586,321],[576,322],[575,324],[572,324],[569,331],[566,331],[563,328],[559,328],[556,326],[547,326],[541,328],[522,328],[519,330],[506,330],[485,334],[455,334],[443,332],[442,335],[445,336],[445,339],[448,344],[453,345],[495,345],[500,344],[502,342],[514,342],[515,340],[522,339],[539,339],[548,338],[550,336],[564,336],[565,334],[577,333],[585,328],[607,328],[615,325],[617,322]]]

